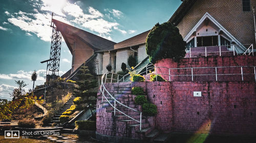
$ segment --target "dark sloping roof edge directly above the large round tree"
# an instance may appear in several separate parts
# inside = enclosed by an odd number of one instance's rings
[[[196,3],[197,0],[184,0],[179,8],[175,11],[169,21],[172,22],[175,26],[179,24],[182,18],[187,14],[190,8]]]

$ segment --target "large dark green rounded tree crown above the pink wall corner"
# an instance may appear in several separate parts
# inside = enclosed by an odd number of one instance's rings
[[[178,62],[186,54],[185,46],[186,42],[183,41],[179,29],[169,21],[157,23],[146,38],[146,53],[153,64],[166,58]]]

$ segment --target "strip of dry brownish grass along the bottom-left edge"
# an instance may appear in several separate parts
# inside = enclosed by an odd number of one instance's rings
[[[27,142],[33,142],[33,143],[40,143],[40,142],[46,142],[46,143],[52,143],[49,139],[44,139],[44,138],[22,138],[20,136],[19,138],[5,138],[4,135],[0,135],[0,142],[5,142],[5,143],[27,143]]]

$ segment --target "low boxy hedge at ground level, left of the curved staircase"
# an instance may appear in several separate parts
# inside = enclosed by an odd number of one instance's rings
[[[96,130],[96,121],[76,121],[75,126],[78,130]]]

